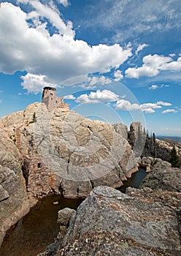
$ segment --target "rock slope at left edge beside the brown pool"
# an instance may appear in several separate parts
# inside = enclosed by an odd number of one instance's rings
[[[7,133],[0,129],[0,245],[6,231],[29,211],[21,171],[23,159]]]

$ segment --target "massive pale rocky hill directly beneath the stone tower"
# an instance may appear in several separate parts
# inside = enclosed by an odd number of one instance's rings
[[[61,192],[64,197],[86,197],[93,187],[120,187],[137,170],[128,141],[109,124],[91,121],[69,109],[48,112],[34,103],[5,117],[1,126],[15,140],[23,157],[29,197]]]

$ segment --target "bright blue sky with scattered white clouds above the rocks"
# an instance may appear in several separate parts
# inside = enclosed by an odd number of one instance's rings
[[[53,86],[83,116],[181,136],[180,0],[0,2],[0,117]]]

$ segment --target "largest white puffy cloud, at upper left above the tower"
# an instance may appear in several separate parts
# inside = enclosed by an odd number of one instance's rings
[[[47,16],[53,26],[61,26],[60,33],[50,34],[46,23],[40,20],[30,26],[27,13],[20,7],[1,3],[0,72],[12,74],[26,70],[30,74],[45,75],[47,83],[58,84],[78,75],[118,69],[132,55],[131,48],[118,44],[90,46],[83,40],[74,39],[72,25],[63,23],[57,10],[47,5],[42,7],[36,0],[31,4],[36,13],[30,14]],[[32,91],[32,87],[28,91]]]

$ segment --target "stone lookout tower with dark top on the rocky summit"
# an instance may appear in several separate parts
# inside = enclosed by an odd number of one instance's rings
[[[65,104],[62,97],[56,96],[56,89],[52,87],[44,87],[42,94],[42,103],[45,103],[48,111],[52,111],[55,108],[69,109],[69,104]]]

